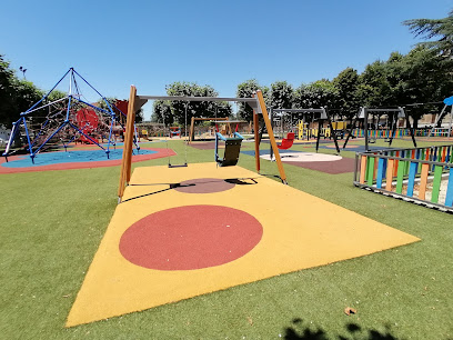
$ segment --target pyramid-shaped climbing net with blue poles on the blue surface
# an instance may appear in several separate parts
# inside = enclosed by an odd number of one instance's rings
[[[68,93],[52,96],[51,93],[64,79],[69,79]],[[97,104],[90,103],[82,94],[81,83],[101,97]],[[52,100],[56,97],[60,98]],[[122,122],[127,117],[127,110],[124,110],[127,102],[124,104],[124,101],[120,101],[118,107],[109,102],[82,76],[70,68],[46,96],[20,113],[19,120],[12,124],[3,156],[8,160],[8,156],[13,153],[11,147],[14,139],[20,136],[33,163],[39,152],[61,144],[67,149],[71,142],[98,146],[109,158],[110,147],[115,146],[115,137],[124,131]],[[140,149],[137,129],[134,131],[134,143],[137,149]]]

